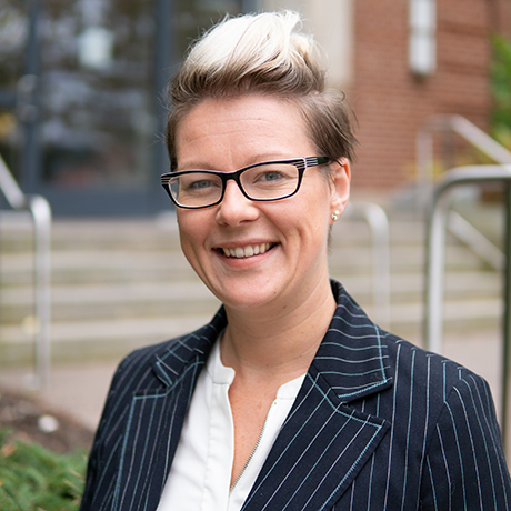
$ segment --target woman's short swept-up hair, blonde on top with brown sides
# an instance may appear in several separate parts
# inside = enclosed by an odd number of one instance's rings
[[[190,49],[169,86],[167,147],[177,167],[180,120],[207,98],[263,93],[292,101],[322,156],[353,159],[357,143],[343,94],[327,91],[325,67],[314,39],[293,11],[226,18]]]

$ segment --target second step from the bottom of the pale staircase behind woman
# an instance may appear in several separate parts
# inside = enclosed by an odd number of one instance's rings
[[[181,275],[182,277],[182,275]],[[335,274],[344,287],[364,304],[373,300],[374,281],[368,274]],[[467,297],[499,298],[500,277],[497,273],[457,272],[445,279],[445,299]],[[393,274],[391,299],[394,304],[421,302],[424,279],[419,273]],[[76,321],[124,317],[186,315],[209,311],[217,299],[197,275],[187,280],[168,279],[123,283],[60,284],[51,289],[53,321]],[[21,323],[33,314],[33,289],[30,285],[2,291],[1,324]]]

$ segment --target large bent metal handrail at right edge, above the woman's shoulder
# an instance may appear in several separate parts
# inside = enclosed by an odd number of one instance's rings
[[[431,351],[442,351],[443,293],[445,262],[445,228],[449,209],[449,193],[459,186],[482,184],[501,181],[508,186],[507,202],[507,242],[505,242],[505,290],[504,290],[504,328],[502,360],[502,432],[505,434],[508,415],[507,393],[511,383],[511,164],[459,167],[447,171],[437,183],[428,218],[427,240],[427,282],[425,282],[425,320],[424,341]]]

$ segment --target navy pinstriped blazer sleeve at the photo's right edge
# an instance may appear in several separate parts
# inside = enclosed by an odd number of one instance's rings
[[[470,373],[450,390],[423,465],[422,510],[508,510],[511,482],[488,383]]]

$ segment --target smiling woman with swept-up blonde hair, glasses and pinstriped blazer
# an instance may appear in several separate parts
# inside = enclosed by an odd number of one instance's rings
[[[119,367],[82,510],[508,509],[487,383],[330,281],[355,144],[292,12],[220,23],[171,83],[162,177],[223,307]]]

